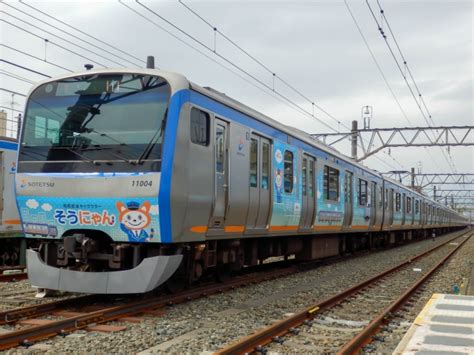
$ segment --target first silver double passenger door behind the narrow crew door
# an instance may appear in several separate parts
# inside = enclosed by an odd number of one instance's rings
[[[250,139],[248,230],[266,230],[271,208],[271,143],[264,137]]]

